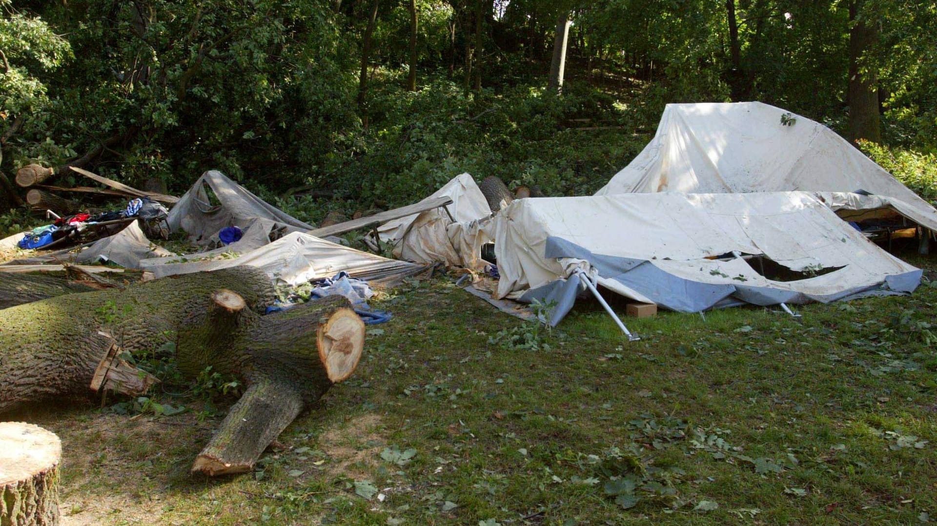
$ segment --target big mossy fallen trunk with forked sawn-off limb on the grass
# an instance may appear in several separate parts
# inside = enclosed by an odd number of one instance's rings
[[[246,387],[193,471],[248,471],[293,418],[350,375],[364,349],[364,323],[345,298],[255,313],[274,299],[266,274],[236,267],[2,310],[0,327],[10,329],[0,332],[0,413],[85,396],[96,371],[101,380],[101,368],[111,370],[102,362],[115,345],[153,352],[169,341],[186,376],[211,366]],[[119,381],[98,383],[109,384]]]

